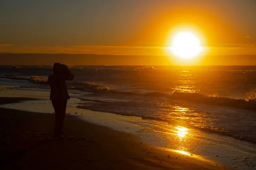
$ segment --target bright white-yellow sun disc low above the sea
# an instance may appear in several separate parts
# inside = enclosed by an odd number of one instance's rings
[[[183,59],[191,59],[200,54],[203,49],[198,37],[190,32],[176,34],[170,48],[173,54]]]

